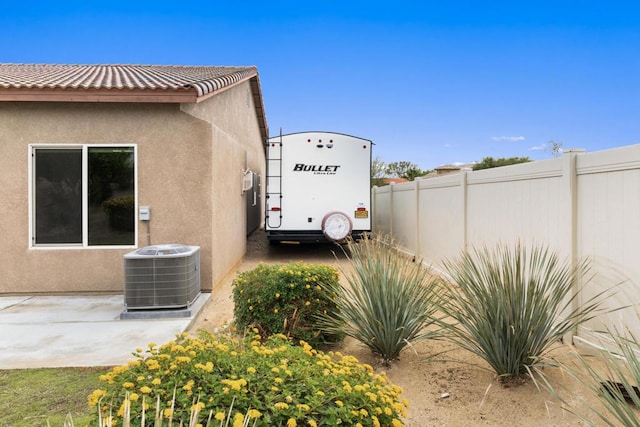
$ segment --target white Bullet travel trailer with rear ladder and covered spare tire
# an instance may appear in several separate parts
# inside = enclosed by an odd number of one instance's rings
[[[267,141],[269,242],[343,242],[371,231],[372,142],[332,132]]]

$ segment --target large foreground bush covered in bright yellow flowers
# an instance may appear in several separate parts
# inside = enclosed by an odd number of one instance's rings
[[[402,425],[408,403],[384,373],[352,356],[300,344],[283,335],[262,344],[259,335],[232,339],[205,332],[178,335],[160,347],[151,343],[100,377],[104,387],[89,396],[92,425],[98,412],[103,425],[121,425],[126,417],[131,425],[152,426],[154,414],[162,425],[192,425],[194,413],[202,425],[221,425],[227,417],[241,422],[244,415],[258,426]]]

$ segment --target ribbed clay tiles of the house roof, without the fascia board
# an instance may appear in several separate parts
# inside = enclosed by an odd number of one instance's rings
[[[202,97],[257,74],[253,66],[0,64],[0,89],[192,91]]]

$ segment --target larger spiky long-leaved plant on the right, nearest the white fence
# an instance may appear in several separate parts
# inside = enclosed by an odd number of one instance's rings
[[[580,306],[576,284],[588,282],[588,260],[572,265],[542,246],[473,248],[444,263],[457,286],[443,311],[448,338],[484,359],[499,377],[534,377],[550,347],[603,310],[600,293]]]

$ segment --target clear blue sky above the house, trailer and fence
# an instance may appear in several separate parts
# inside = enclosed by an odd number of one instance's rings
[[[255,65],[271,135],[422,169],[640,143],[640,4],[10,2],[0,62]]]

